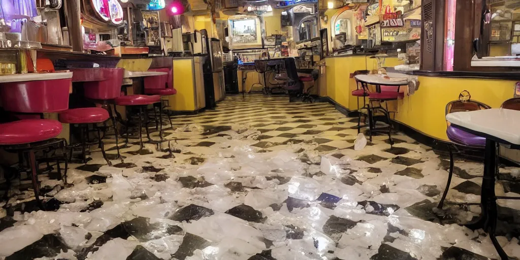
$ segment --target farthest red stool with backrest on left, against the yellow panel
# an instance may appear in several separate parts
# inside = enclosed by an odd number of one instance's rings
[[[166,75],[145,77],[145,94],[161,96],[161,103],[158,106],[156,106],[157,103],[154,104],[153,112],[155,113],[155,107],[159,107],[159,113],[162,118],[164,109],[170,107],[170,100],[162,99],[162,97],[177,94],[177,90],[173,87],[173,73],[171,69],[167,68],[149,69],[148,71],[168,73]],[[168,121],[170,121],[170,126],[173,128],[172,119],[170,118],[170,115],[167,116]],[[155,118],[157,119],[157,115],[155,115]],[[157,130],[157,125],[155,125],[155,129]]]

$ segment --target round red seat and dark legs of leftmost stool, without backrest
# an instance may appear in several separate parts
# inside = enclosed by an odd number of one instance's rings
[[[40,201],[40,185],[38,184],[38,162],[35,153],[51,147],[65,148],[67,141],[64,139],[53,139],[61,133],[62,125],[56,120],[34,119],[21,120],[10,123],[0,124],[0,147],[6,151],[17,152],[19,154],[19,165],[23,164],[23,158],[28,158],[31,172],[32,184],[36,203],[40,209],[45,210]],[[67,183],[67,154],[63,152],[65,170],[63,174],[64,183]],[[58,162],[58,171],[59,162]],[[19,166],[23,171],[23,167]],[[20,171],[20,172],[21,172]]]

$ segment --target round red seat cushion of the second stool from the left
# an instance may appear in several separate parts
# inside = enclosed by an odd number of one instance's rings
[[[61,123],[93,124],[107,121],[109,115],[102,108],[76,108],[61,112],[59,118]]]

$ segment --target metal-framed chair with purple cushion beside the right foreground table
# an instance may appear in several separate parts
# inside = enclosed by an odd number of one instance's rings
[[[470,93],[464,90],[459,94],[459,100],[451,101],[446,105],[446,114],[489,108],[490,107],[484,103],[471,100]],[[453,176],[453,148],[456,150],[479,150],[484,152],[486,146],[486,138],[467,133],[459,128],[451,126],[449,122],[447,123],[448,127],[446,129],[446,135],[453,145],[448,145],[448,151],[450,153],[450,168],[443,197],[437,205],[439,209],[443,208],[444,200],[446,199],[448,190],[450,189],[451,177]]]

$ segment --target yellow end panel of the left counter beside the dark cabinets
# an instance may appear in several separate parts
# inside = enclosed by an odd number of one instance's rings
[[[193,89],[193,59],[173,60],[173,85],[177,89],[176,95],[168,96],[170,110],[194,111],[195,96]]]

